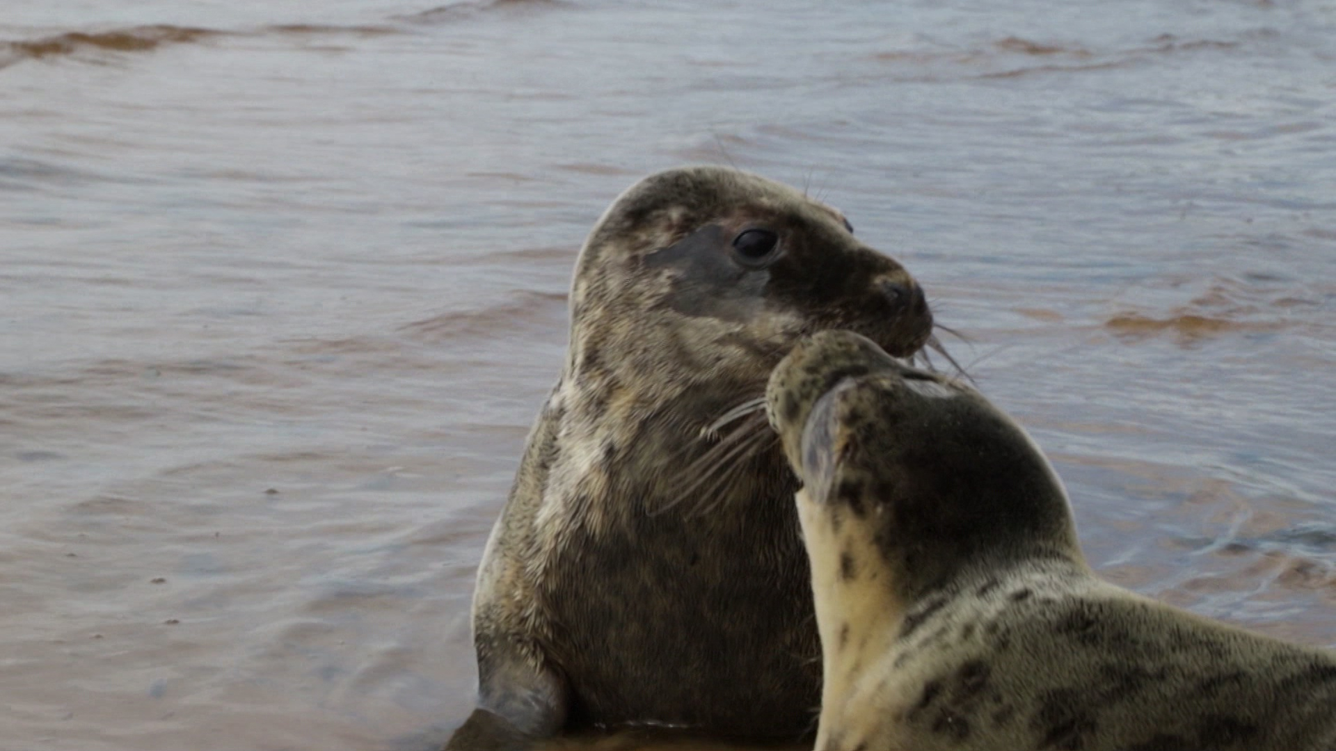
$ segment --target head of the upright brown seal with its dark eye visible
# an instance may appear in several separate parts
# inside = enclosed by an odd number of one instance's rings
[[[919,285],[840,212],[723,167],[627,190],[584,246],[570,306],[568,374],[640,408],[701,385],[759,396],[807,333],[850,329],[910,355],[933,331]]]

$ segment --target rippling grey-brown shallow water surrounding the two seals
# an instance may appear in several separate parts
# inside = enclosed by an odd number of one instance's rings
[[[426,748],[637,176],[908,266],[1110,579],[1336,645],[1336,4],[8,0],[0,735]]]

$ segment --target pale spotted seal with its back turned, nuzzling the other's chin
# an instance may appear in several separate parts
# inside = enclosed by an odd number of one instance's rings
[[[803,482],[819,751],[1336,748],[1336,653],[1098,580],[1057,474],[970,386],[824,331],[767,414]]]

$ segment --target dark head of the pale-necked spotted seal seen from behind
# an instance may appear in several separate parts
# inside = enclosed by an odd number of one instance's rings
[[[767,417],[804,485],[814,568],[840,553],[814,549],[808,517],[866,528],[902,599],[969,567],[1079,560],[1066,493],[1029,436],[969,385],[859,334],[800,342],[771,374]]]

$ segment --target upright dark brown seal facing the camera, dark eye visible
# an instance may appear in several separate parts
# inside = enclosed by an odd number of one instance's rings
[[[796,480],[762,396],[816,330],[912,354],[933,329],[922,290],[838,211],[689,167],[608,208],[570,318],[565,369],[484,552],[478,708],[448,748],[636,726],[808,735],[820,644]],[[737,445],[756,450],[720,454],[723,478],[700,485],[701,458],[729,440],[712,425],[747,400],[754,430]]]

